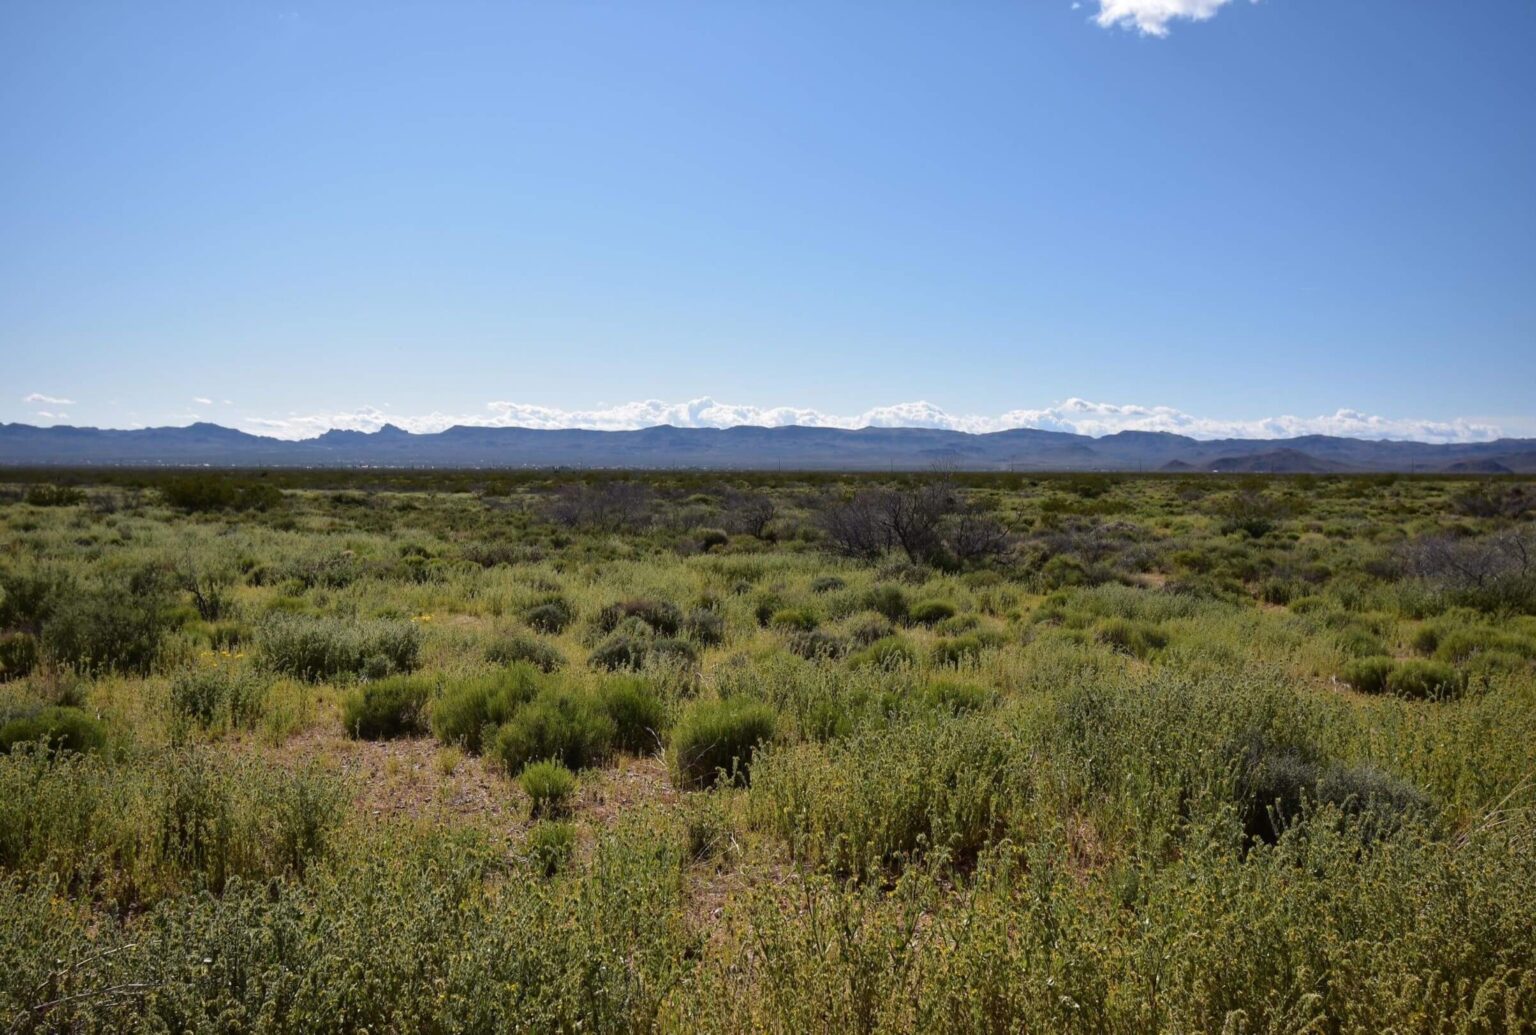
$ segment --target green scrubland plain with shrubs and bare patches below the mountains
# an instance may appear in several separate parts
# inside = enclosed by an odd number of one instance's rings
[[[1530,1032],[1528,498],[25,473],[0,1030]]]

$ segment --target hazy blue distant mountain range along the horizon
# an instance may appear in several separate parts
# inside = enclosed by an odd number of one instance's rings
[[[1192,439],[1166,432],[1103,438],[1017,428],[969,435],[932,428],[650,427],[637,432],[450,427],[412,435],[326,432],[303,441],[218,424],[141,430],[0,424],[0,465],[114,467],[631,467],[734,470],[1018,471],[1445,471],[1536,473],[1536,439],[1379,442]]]

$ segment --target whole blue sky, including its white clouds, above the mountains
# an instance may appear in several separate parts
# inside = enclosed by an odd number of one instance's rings
[[[1533,49],[1530,0],[11,0],[0,421],[1536,435]]]

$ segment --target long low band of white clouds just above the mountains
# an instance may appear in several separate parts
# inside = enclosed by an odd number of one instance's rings
[[[1121,405],[1066,399],[1041,408],[1009,410],[1000,416],[946,413],[932,402],[897,402],[857,415],[834,415],[799,407],[754,407],[717,402],[711,398],[688,402],[645,399],[594,410],[559,410],[528,402],[488,402],[481,413],[404,415],[376,407],[349,413],[252,418],[241,422],[249,432],[284,439],[313,438],[332,428],[376,432],[386,424],[407,432],[441,432],[468,427],[594,428],[625,432],[659,424],[673,427],[925,427],[952,432],[1005,432],[1040,428],[1075,435],[1114,435],[1115,432],[1174,432],[1197,439],[1213,438],[1295,438],[1299,435],[1341,435],[1366,439],[1413,439],[1419,442],[1479,442],[1499,438],[1499,428],[1467,418],[1424,421],[1384,418],[1358,410],[1301,418],[1272,416],[1249,421],[1200,418],[1166,405]]]

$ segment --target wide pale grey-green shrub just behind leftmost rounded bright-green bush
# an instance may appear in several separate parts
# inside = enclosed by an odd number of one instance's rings
[[[412,622],[269,614],[257,630],[261,663],[310,682],[381,679],[416,670],[421,630]]]

